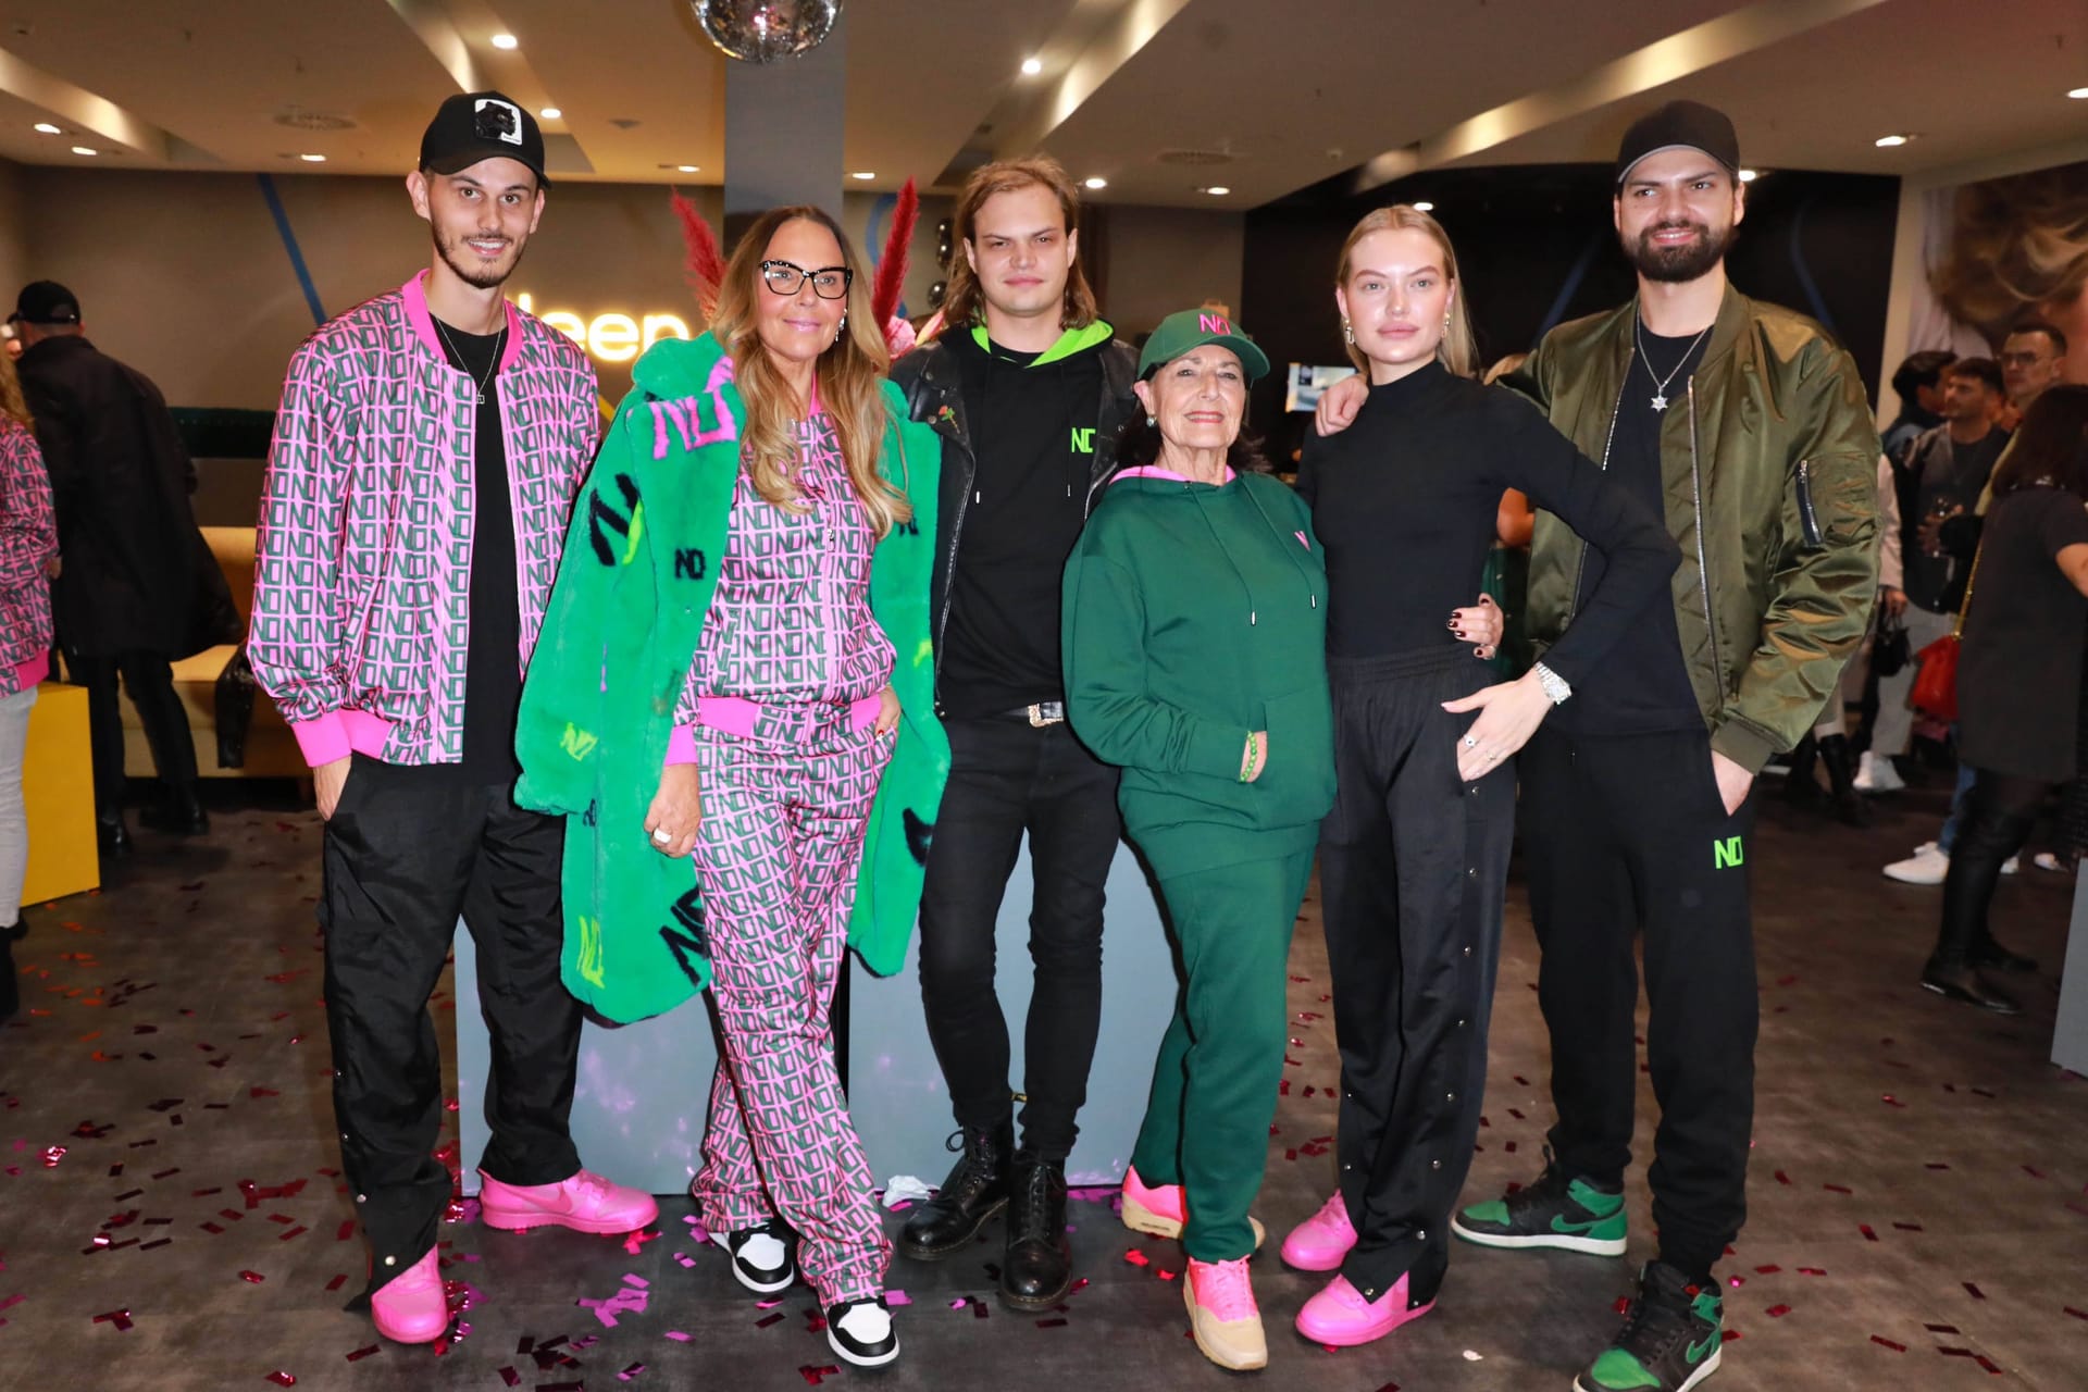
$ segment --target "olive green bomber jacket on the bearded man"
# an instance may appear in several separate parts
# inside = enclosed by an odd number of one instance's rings
[[[1608,467],[1637,301],[1545,334],[1508,386]],[[1731,286],[1704,361],[1662,422],[1670,580],[1712,749],[1750,772],[1796,745],[1877,599],[1877,426],[1856,363],[1812,319]],[[1581,543],[1537,513],[1528,630],[1572,622]]]

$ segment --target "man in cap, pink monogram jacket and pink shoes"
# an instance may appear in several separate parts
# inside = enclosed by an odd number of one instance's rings
[[[443,102],[407,175],[434,257],[290,359],[248,653],[326,818],[319,920],[340,1156],[378,1331],[449,1323],[428,995],[459,914],[493,1066],[491,1227],[622,1233],[651,1196],[580,1169],[580,1010],[560,983],[564,822],[514,803],[516,707],[597,442],[595,374],[501,296],[543,215],[543,136],[499,92]]]

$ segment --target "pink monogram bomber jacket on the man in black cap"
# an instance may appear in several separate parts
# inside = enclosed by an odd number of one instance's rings
[[[246,653],[313,766],[464,758],[478,388],[443,355],[422,275],[319,328],[282,386]],[[595,457],[595,369],[507,305],[495,382],[526,670]]]

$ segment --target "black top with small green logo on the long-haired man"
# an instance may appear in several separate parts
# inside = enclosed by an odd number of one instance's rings
[[[1054,361],[950,336],[977,474],[963,501],[942,710],[992,716],[1065,699],[1059,580],[1088,515],[1102,349]]]

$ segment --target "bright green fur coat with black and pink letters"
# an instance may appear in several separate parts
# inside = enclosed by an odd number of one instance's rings
[[[566,987],[612,1021],[672,1010],[710,981],[689,860],[660,856],[645,812],[718,586],[745,407],[706,334],[662,340],[633,369],[572,511],[543,634],[522,687],[516,801],[566,818]],[[848,941],[892,975],[921,904],[927,843],[950,772],[935,720],[927,601],[942,449],[883,384],[881,465],[912,503],[871,557],[871,611],[898,653],[902,720],[871,808]]]

